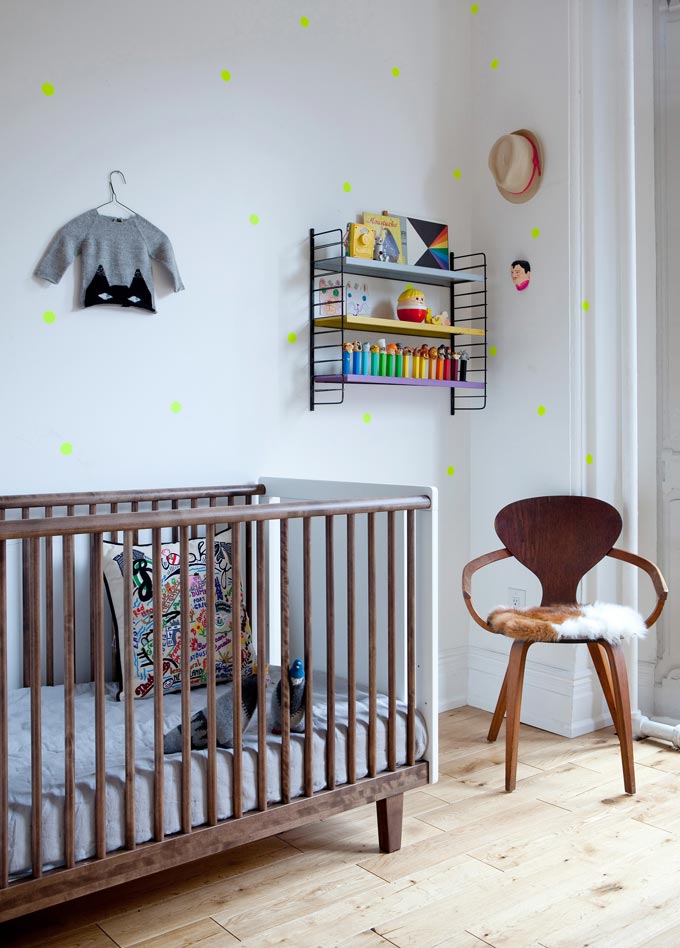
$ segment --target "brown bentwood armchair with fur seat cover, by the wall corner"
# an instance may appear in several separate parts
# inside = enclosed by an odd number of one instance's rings
[[[590,651],[597,677],[621,745],[626,793],[635,793],[633,737],[628,677],[621,641],[643,633],[658,619],[668,588],[659,568],[649,560],[614,547],[622,528],[618,511],[593,497],[530,497],[504,507],[494,523],[504,548],[477,557],[463,570],[463,598],[483,629],[513,639],[508,668],[487,740],[498,737],[507,712],[505,789],[515,789],[520,706],[527,652],[534,642],[583,642]],[[534,573],[542,587],[540,607],[496,609],[487,620],[477,614],[471,580],[483,566],[514,556]],[[605,556],[644,570],[654,584],[657,603],[644,621],[625,606],[579,606],[579,582]]]

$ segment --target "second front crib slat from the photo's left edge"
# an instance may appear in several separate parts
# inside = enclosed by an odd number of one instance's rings
[[[29,541],[30,666],[31,681],[31,864],[33,876],[42,876],[42,728],[40,709],[40,538]]]

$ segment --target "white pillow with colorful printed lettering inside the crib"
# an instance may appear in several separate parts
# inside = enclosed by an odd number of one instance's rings
[[[218,682],[231,681],[233,663],[231,530],[215,537],[215,666]],[[104,581],[111,604],[118,653],[122,655],[125,629],[125,579],[122,543],[104,543]],[[189,540],[189,621],[191,631],[190,686],[205,685],[208,680],[206,640],[206,541]],[[154,592],[160,588],[163,611],[163,691],[179,691],[181,671],[181,596],[180,545],[161,545],[160,569],[152,561],[152,545],[132,547],[132,636],[134,669],[132,687],[135,698],[153,694],[153,616]],[[253,674],[255,650],[250,621],[241,597],[241,669],[243,676]],[[125,683],[127,687],[127,683]]]

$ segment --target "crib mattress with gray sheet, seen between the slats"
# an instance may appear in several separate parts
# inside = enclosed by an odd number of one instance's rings
[[[271,669],[267,682],[267,707],[271,692],[279,679]],[[218,687],[220,694],[227,686]],[[116,700],[117,686],[108,685],[106,692],[106,845],[108,851],[124,845],[125,833],[125,707]],[[205,707],[205,689],[193,689],[192,713]],[[314,790],[324,788],[325,749],[327,736],[326,681],[322,673],[314,674]],[[376,728],[379,771],[387,767],[387,710],[385,695],[377,700]],[[153,701],[135,701],[135,830],[138,843],[153,837]],[[181,721],[180,695],[166,695],[163,701],[164,730]],[[357,779],[368,773],[368,693],[357,688],[356,771]],[[347,781],[347,689],[336,681],[335,703],[335,774],[336,783]],[[95,855],[95,722],[94,685],[77,685],[75,693],[75,855],[77,860]],[[31,871],[31,727],[30,690],[9,694],[9,853],[10,873],[18,877]],[[43,868],[64,863],[64,691],[62,686],[42,689],[42,777],[43,777]],[[397,763],[406,762],[406,707],[397,704]],[[304,734],[291,734],[290,741],[291,796],[303,792]],[[416,758],[427,748],[427,730],[422,717],[416,715]],[[267,800],[281,799],[280,783],[281,737],[267,728]],[[231,750],[217,750],[217,814],[218,819],[232,815]],[[243,735],[243,809],[257,806],[257,713]],[[165,833],[181,829],[181,755],[164,759],[164,822]],[[191,820],[193,826],[207,822],[207,751],[191,754]]]

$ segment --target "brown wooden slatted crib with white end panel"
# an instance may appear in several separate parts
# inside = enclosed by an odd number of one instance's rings
[[[330,492],[331,495],[333,491]],[[337,494],[337,490],[335,491]],[[189,488],[181,490],[114,491],[107,493],[46,494],[0,498],[0,921],[35,911],[65,899],[123,883],[231,846],[283,832],[333,813],[376,802],[381,851],[401,845],[403,793],[433,778],[436,748],[436,707],[433,707],[436,648],[435,585],[423,583],[423,570],[432,568],[436,550],[436,521],[432,495],[368,499],[292,500],[272,502],[265,485]],[[434,524],[434,525],[433,525]],[[416,528],[418,525],[418,529]],[[153,757],[152,832],[137,838],[141,748],[136,746],[135,720],[140,701],[124,688],[124,778],[121,780],[123,845],[107,844],[107,745],[110,714],[107,681],[122,669],[132,680],[132,548],[148,542],[155,561],[162,543],[179,542],[184,553],[191,539],[206,538],[206,574],[214,572],[216,531],[231,527],[233,589],[242,584],[244,608],[250,617],[257,649],[257,728],[253,751],[255,803],[244,805],[244,751],[241,734],[241,655],[233,656],[234,747],[229,752],[230,815],[218,813],[218,763],[224,751],[216,746],[217,685],[214,662],[208,663],[207,687],[184,684],[181,705],[182,751],[179,790],[180,827],[166,831],[164,696],[155,688],[141,703],[151,717]],[[125,577],[130,590],[125,603],[124,643],[112,654],[111,620],[105,604],[102,575],[104,543],[122,543]],[[436,553],[435,553],[436,558]],[[189,627],[184,590],[188,588],[188,558],[181,556],[182,629]],[[214,654],[214,588],[206,582],[207,654]],[[232,609],[240,628],[238,595]],[[211,618],[212,617],[212,618]],[[425,620],[423,621],[423,617]],[[153,619],[153,669],[162,667],[161,611]],[[423,627],[424,626],[424,627]],[[181,639],[183,681],[189,667],[189,636]],[[313,721],[314,676],[325,680],[324,785],[315,788],[314,727],[291,735],[289,685],[281,675],[282,727],[277,753],[280,799],[267,799],[266,681],[268,663],[288,668],[295,655],[304,657],[307,672],[305,720]],[[340,678],[342,722],[337,708]],[[78,683],[78,684],[77,684]],[[78,856],[76,802],[81,792],[76,773],[79,732],[75,694],[90,683],[96,762],[92,772],[94,799],[93,851]],[[45,861],[43,755],[44,739],[53,722],[44,719],[41,703],[63,688],[63,860]],[[365,687],[366,726],[357,719],[357,689]],[[386,711],[378,712],[380,689]],[[190,746],[192,696],[201,691],[207,705],[208,747]],[[362,692],[363,693],[363,692]],[[89,694],[89,691],[88,691]],[[30,695],[30,864],[12,870],[10,820],[10,735],[19,721],[9,717],[10,698]],[[174,696],[173,696],[174,697]],[[79,699],[81,700],[81,699]],[[88,699],[89,700],[89,699]],[[150,702],[150,704],[149,704]],[[26,701],[28,706],[29,702]],[[107,710],[107,707],[109,710]],[[422,730],[425,710],[429,732],[426,752],[416,749],[417,725]],[[401,722],[401,723],[400,723]],[[26,724],[28,728],[28,724]],[[402,728],[398,731],[398,727]],[[378,761],[377,741],[385,737],[385,769]],[[404,740],[397,738],[398,733]],[[338,776],[336,740],[343,735],[342,782]],[[359,735],[359,736],[357,736]],[[253,734],[252,740],[255,741]],[[365,775],[358,767],[358,741],[365,742]],[[50,742],[54,743],[53,730]],[[291,788],[291,746],[303,763],[301,793]],[[399,744],[399,747],[398,747]],[[364,746],[364,745],[362,745]],[[110,747],[109,747],[110,751]],[[402,754],[403,751],[403,754]],[[123,750],[120,751],[121,755]],[[203,753],[201,793],[206,817],[192,819],[192,755]],[[436,749],[435,749],[436,753]],[[245,757],[244,757],[245,754]],[[318,754],[318,748],[317,748]],[[61,761],[61,750],[59,750]],[[362,758],[363,759],[363,758]],[[195,761],[194,761],[195,763]],[[317,769],[319,761],[316,761]],[[28,766],[28,763],[27,763]],[[363,765],[362,765],[363,766]],[[179,767],[179,763],[178,763]],[[296,791],[298,792],[298,791]],[[28,830],[27,830],[28,832]]]

